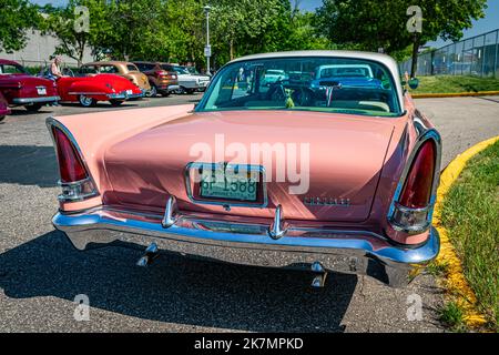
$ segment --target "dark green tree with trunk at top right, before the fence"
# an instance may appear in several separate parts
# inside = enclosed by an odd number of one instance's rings
[[[422,11],[422,31],[409,32],[407,10],[418,6]],[[318,29],[340,44],[387,53],[413,47],[411,75],[416,74],[418,50],[438,37],[454,41],[472,20],[485,16],[487,0],[323,0],[317,11]]]

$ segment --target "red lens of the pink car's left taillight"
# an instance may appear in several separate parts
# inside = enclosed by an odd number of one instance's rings
[[[57,144],[61,182],[71,183],[88,179],[89,174],[74,145],[61,130],[52,128],[52,131]]]

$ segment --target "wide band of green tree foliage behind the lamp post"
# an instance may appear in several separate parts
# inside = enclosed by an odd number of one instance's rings
[[[58,53],[81,61],[84,48],[113,59],[205,62],[205,0],[70,0],[45,7],[44,32],[60,40]],[[256,52],[325,49],[313,13],[288,0],[211,0],[210,32],[216,67]],[[90,31],[77,32],[74,8],[90,11]]]

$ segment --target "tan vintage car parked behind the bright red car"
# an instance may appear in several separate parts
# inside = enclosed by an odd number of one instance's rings
[[[79,73],[86,75],[116,74],[138,85],[143,91],[144,95],[151,94],[151,85],[147,75],[141,73],[134,63],[121,61],[86,63],[80,67]]]

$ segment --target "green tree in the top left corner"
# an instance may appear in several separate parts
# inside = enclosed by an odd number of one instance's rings
[[[28,0],[0,0],[0,52],[11,53],[24,48],[27,30],[40,21],[37,7]]]

